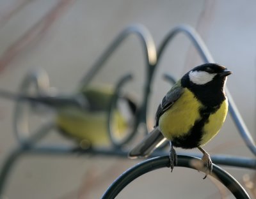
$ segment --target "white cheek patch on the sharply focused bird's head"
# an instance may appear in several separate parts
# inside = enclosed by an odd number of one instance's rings
[[[189,80],[197,85],[203,85],[215,77],[216,73],[207,73],[205,71],[190,71]]]

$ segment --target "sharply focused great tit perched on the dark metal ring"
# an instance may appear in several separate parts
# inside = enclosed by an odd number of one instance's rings
[[[205,177],[211,173],[211,157],[202,147],[220,131],[225,121],[228,100],[224,85],[230,74],[224,66],[213,63],[202,64],[186,73],[164,96],[157,108],[154,129],[129,152],[129,157],[146,157],[167,139],[172,170],[177,165],[173,147],[197,147],[203,153]]]

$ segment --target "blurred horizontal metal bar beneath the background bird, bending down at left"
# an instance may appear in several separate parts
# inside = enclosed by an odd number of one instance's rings
[[[54,126],[45,126],[45,129],[42,129],[42,131],[38,131],[35,136],[31,137],[33,142],[37,142],[38,139],[41,136],[44,136],[44,132],[47,132],[47,128],[51,129],[54,128]],[[29,139],[30,140],[30,139]],[[120,157],[120,158],[127,158],[127,151],[122,150],[113,150],[113,149],[87,149],[83,150],[81,148],[77,147],[68,147],[63,145],[42,145],[42,146],[35,146],[31,145],[30,142],[28,144],[20,145],[18,149],[15,149],[12,151],[9,156],[4,161],[4,165],[0,172],[0,196],[4,191],[4,186],[6,185],[6,180],[8,179],[8,175],[10,171],[13,168],[13,165],[17,162],[17,160],[20,158],[20,156],[23,155],[70,155],[70,154],[88,154],[88,155],[94,155],[94,156],[103,156],[103,157]],[[186,156],[193,156],[196,158],[200,158],[201,154],[179,154],[179,155],[186,155]],[[163,151],[155,151],[151,154],[152,157],[157,156],[166,156],[166,153]],[[218,165],[224,165],[224,166],[236,166],[239,168],[244,169],[256,169],[256,159],[252,158],[241,158],[237,156],[225,156],[225,155],[213,155],[211,156],[212,161],[215,164]],[[179,159],[180,161],[180,159]],[[178,162],[179,162],[178,161]]]

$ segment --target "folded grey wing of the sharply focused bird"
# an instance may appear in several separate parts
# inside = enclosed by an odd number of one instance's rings
[[[161,103],[159,104],[157,111],[156,111],[156,126],[158,126],[159,118],[161,115],[163,115],[166,110],[168,110],[170,107],[172,107],[173,103],[177,101],[177,99],[180,98],[180,96],[183,94],[184,88],[180,85],[180,80],[173,85],[172,89],[167,92],[167,94],[162,99]]]

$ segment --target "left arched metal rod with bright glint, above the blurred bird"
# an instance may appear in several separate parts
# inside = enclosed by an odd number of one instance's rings
[[[99,72],[102,68],[103,64],[108,60],[109,56],[115,52],[116,48],[118,48],[129,36],[132,34],[138,36],[142,45],[143,45],[143,52],[145,55],[145,66],[147,70],[147,75],[145,76],[145,88],[143,92],[143,99],[141,106],[138,107],[138,117],[135,121],[135,126],[138,127],[140,123],[146,124],[147,121],[147,106],[148,106],[148,96],[150,94],[150,84],[152,80],[152,75],[154,73],[154,68],[157,63],[157,53],[156,53],[156,46],[152,35],[148,31],[148,29],[144,26],[134,24],[128,26],[124,29],[115,40],[106,48],[106,50],[100,55],[99,59],[92,65],[92,68],[84,75],[82,78],[79,87],[83,88],[86,87],[92,81],[93,77]],[[146,125],[145,125],[146,126]],[[145,133],[147,130],[145,129]],[[135,135],[135,133],[134,133]],[[112,142],[115,142],[112,140]]]

